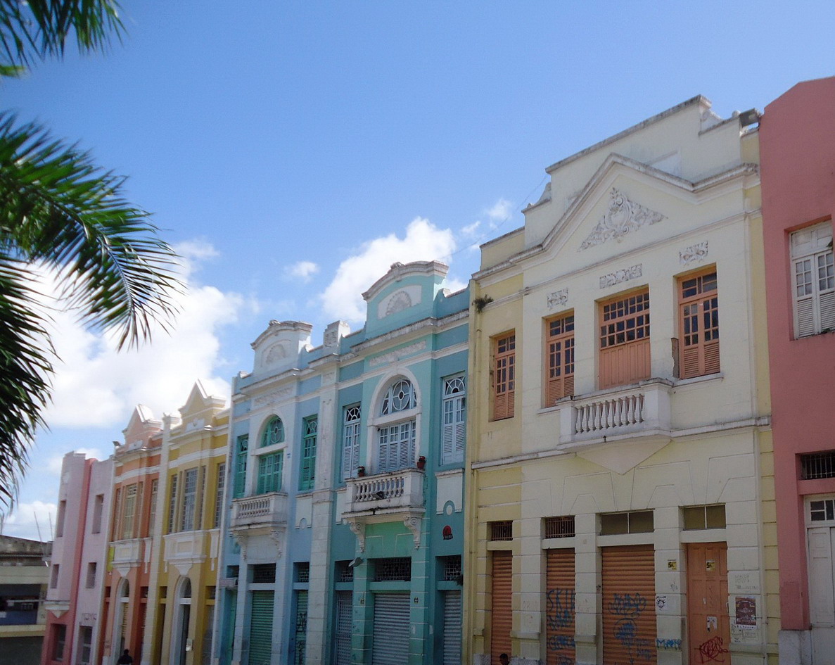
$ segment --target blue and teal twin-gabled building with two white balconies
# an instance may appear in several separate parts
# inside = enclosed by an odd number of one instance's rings
[[[220,665],[461,662],[468,289],[396,263],[365,326],[271,322],[235,378]]]

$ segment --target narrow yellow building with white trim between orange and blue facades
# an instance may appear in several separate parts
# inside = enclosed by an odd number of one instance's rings
[[[215,622],[229,411],[198,382],[180,417],[163,419],[154,507],[150,622],[143,652],[153,665],[208,665]]]

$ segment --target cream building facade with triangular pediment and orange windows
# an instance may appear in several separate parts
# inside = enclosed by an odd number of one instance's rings
[[[776,662],[756,120],[646,119],[483,245],[466,662]]]

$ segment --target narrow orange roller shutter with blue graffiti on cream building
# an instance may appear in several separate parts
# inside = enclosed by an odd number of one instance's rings
[[[574,662],[574,550],[549,550],[545,591],[547,663]]]

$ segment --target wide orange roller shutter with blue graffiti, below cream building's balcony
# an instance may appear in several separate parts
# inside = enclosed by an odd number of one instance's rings
[[[601,554],[604,665],[652,665],[658,655],[653,547],[604,547]]]

